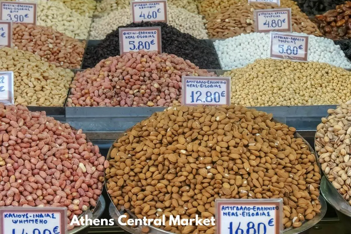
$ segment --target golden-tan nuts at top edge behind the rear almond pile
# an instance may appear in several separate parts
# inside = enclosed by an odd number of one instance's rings
[[[199,13],[204,15],[206,19],[218,14],[220,11],[232,7],[237,4],[247,3],[243,0],[203,0],[198,3]],[[298,14],[306,19],[307,15],[301,11],[297,3],[293,0],[281,0],[280,7],[291,8],[292,13]]]

